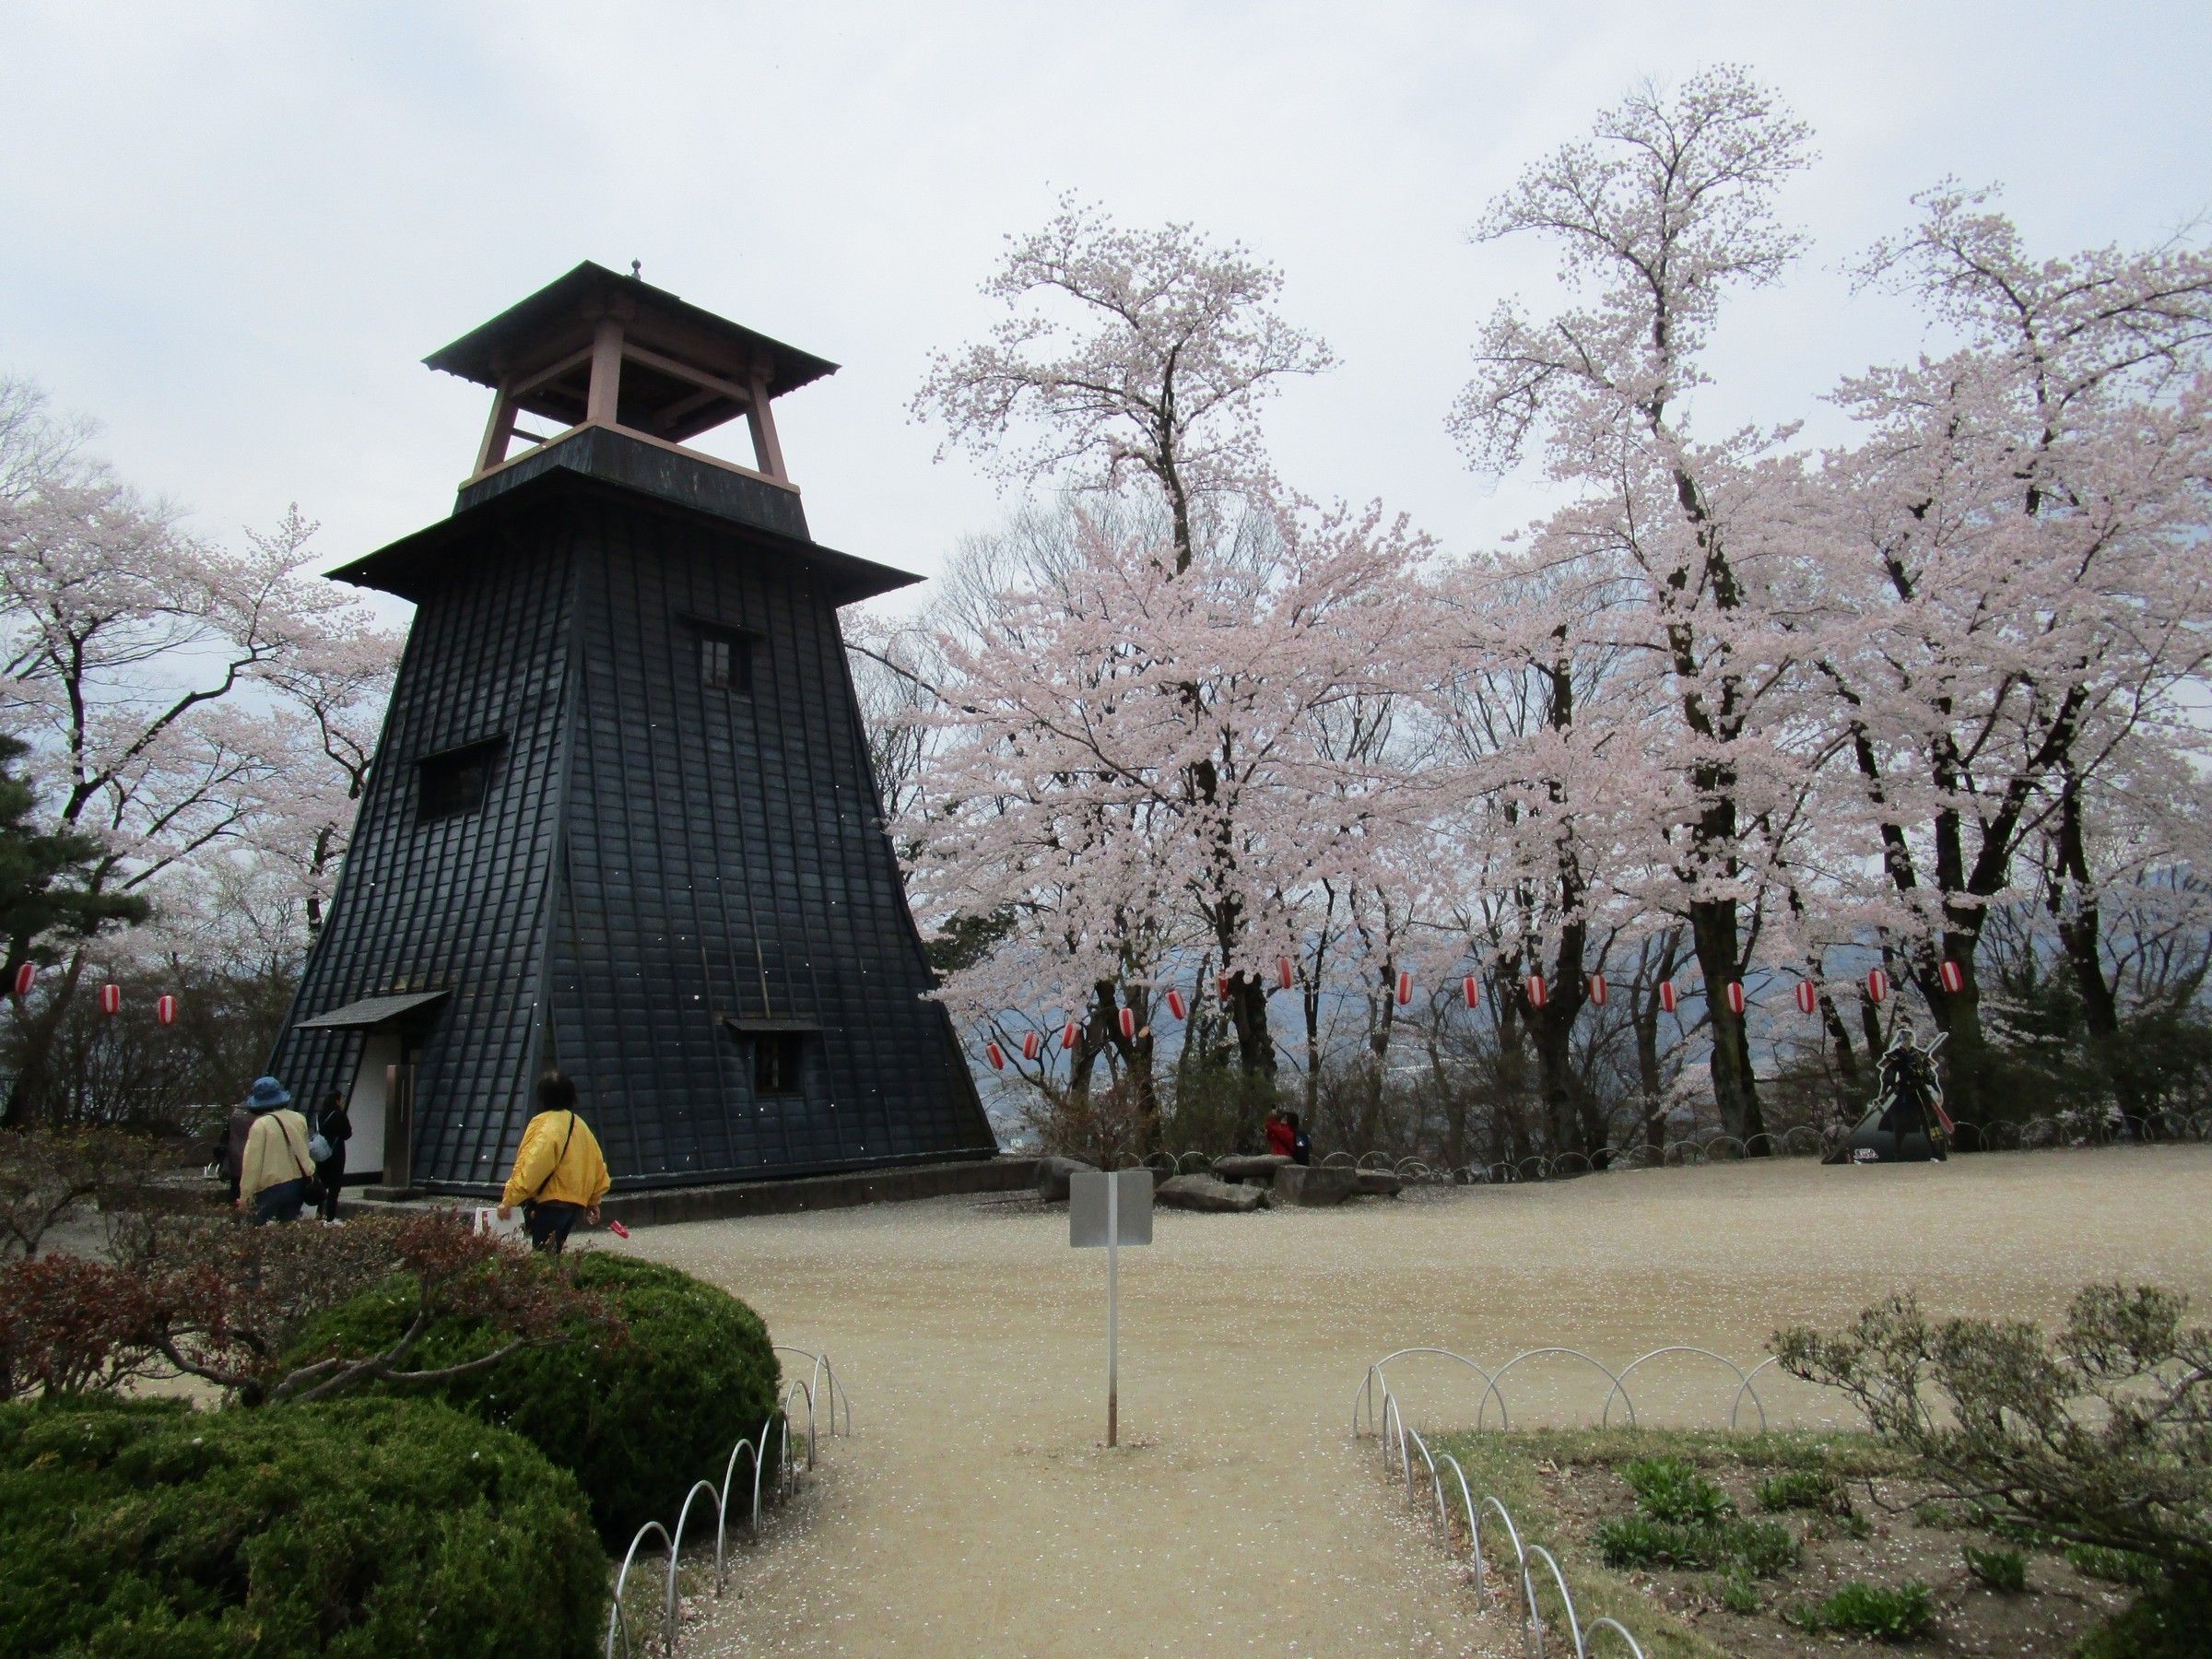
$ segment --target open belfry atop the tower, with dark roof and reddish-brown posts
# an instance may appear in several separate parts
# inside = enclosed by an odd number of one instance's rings
[[[584,427],[611,427],[728,467],[684,442],[743,416],[752,467],[739,471],[792,487],[770,405],[836,374],[836,363],[588,259],[422,361],[493,392],[469,484]],[[524,431],[522,416],[555,429]],[[515,440],[529,447],[511,453]]]

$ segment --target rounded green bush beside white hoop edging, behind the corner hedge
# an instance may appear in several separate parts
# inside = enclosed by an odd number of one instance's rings
[[[644,1522],[672,1524],[695,1480],[719,1482],[730,1447],[759,1438],[776,1411],[779,1367],[761,1316],[714,1285],[604,1250],[571,1256],[568,1265],[577,1285],[613,1301],[628,1325],[624,1338],[580,1325],[568,1343],[414,1391],[431,1387],[447,1405],[513,1429],[571,1469],[599,1537],[622,1553]],[[411,1307],[400,1283],[356,1296],[310,1325],[292,1358],[380,1347],[398,1336]],[[473,1321],[445,1321],[422,1334],[409,1363],[451,1365],[491,1343]],[[768,1458],[763,1489],[776,1471],[774,1447]],[[743,1462],[739,1469],[743,1482]]]

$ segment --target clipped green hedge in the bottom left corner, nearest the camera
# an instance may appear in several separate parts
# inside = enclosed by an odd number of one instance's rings
[[[0,1652],[588,1655],[575,1478],[431,1400],[0,1407]]]

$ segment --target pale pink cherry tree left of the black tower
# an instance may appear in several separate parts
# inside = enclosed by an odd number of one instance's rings
[[[206,544],[24,383],[0,387],[0,723],[60,830],[97,841],[88,889],[159,914],[166,885],[232,849],[327,885],[392,639],[301,568],[310,526],[294,511],[239,551]],[[31,1020],[11,1113],[38,1097],[84,960]]]

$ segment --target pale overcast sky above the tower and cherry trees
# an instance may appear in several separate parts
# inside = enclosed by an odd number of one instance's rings
[[[0,369],[210,535],[288,502],[352,557],[451,509],[489,394],[420,358],[580,259],[845,367],[779,405],[821,542],[929,573],[1006,500],[907,418],[1009,230],[1079,190],[1276,261],[1332,374],[1270,414],[1310,495],[1447,546],[1540,502],[1444,436],[1540,246],[1482,204],[1639,77],[1741,62],[1816,128],[1787,288],[1699,425],[1816,414],[1918,345],[1843,263],[1958,175],[2039,252],[2212,208],[2197,4],[95,4],[0,9]],[[1818,427],[1816,427],[1818,431]]]

